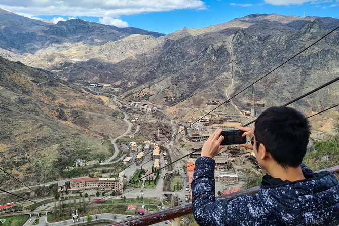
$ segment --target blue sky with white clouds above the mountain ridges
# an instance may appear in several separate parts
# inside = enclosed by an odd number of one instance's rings
[[[54,23],[79,18],[165,34],[253,13],[339,18],[339,0],[0,0],[0,7]]]

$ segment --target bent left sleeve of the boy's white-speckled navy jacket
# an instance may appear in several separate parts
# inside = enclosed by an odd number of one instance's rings
[[[213,159],[200,157],[194,168],[192,212],[199,225],[254,225],[267,214],[258,194],[216,201]]]

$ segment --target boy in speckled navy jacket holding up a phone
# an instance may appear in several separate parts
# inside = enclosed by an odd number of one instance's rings
[[[195,163],[192,210],[199,225],[339,224],[338,181],[302,164],[310,135],[305,116],[293,108],[271,107],[257,118],[255,130],[239,129],[251,138],[251,144],[240,146],[254,150],[269,175],[263,176],[257,194],[216,201],[213,157],[224,147],[222,130],[216,130]]]

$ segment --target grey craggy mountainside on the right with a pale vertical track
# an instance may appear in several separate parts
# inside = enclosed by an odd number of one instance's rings
[[[124,90],[121,96],[126,100],[174,105],[178,110],[171,113],[182,117],[188,112],[179,108],[202,108],[207,100],[227,99],[338,25],[333,18],[249,15],[229,26],[204,28],[198,35],[197,30],[185,28],[160,37],[164,40],[160,46],[138,57],[118,63],[98,59],[69,63],[59,73],[71,81],[113,83]],[[266,106],[284,104],[337,77],[338,40],[335,31],[257,83],[256,101]],[[234,100],[239,109],[249,110],[250,93],[251,89]],[[337,95],[334,84],[298,101],[296,107],[317,111],[330,106]]]

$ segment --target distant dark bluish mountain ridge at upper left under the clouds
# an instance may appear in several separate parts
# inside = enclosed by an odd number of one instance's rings
[[[0,9],[0,48],[21,54],[33,54],[51,44],[65,42],[102,45],[131,34],[156,37],[164,35],[134,27],[119,28],[80,19],[51,24]]]

